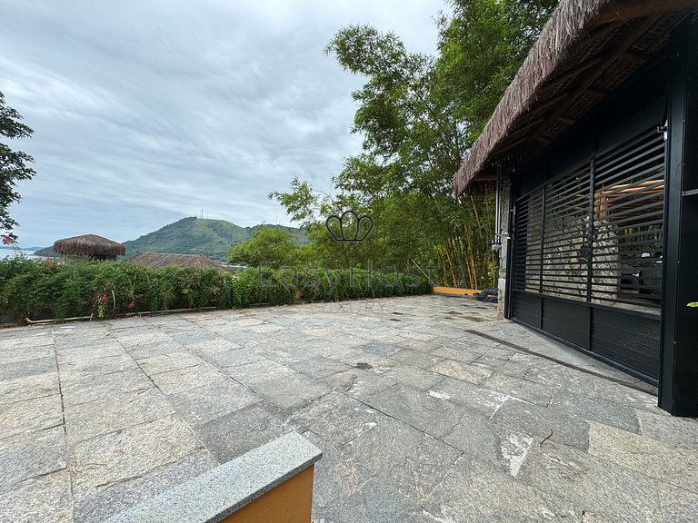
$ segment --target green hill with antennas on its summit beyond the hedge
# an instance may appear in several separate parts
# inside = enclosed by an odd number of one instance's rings
[[[173,252],[175,254],[204,254],[213,260],[224,262],[230,248],[244,242],[250,234],[261,227],[240,227],[224,220],[204,220],[194,216],[169,225],[155,232],[149,232],[140,238],[124,242],[126,258],[141,252]],[[298,242],[306,243],[304,231],[284,225],[267,225],[290,232]],[[51,247],[39,252],[37,256],[55,256]]]

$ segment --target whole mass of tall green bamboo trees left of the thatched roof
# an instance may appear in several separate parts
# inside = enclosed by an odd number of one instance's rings
[[[453,195],[464,153],[551,14],[554,0],[454,0],[453,15],[437,17],[437,56],[410,53],[394,33],[348,25],[325,47],[364,85],[352,93],[352,133],[361,153],[334,176],[333,198],[298,180],[274,192],[309,229],[318,259],[420,266],[435,263],[445,284],[492,286],[497,256],[494,197]],[[374,218],[366,242],[332,242],[321,226],[327,213],[354,208]]]

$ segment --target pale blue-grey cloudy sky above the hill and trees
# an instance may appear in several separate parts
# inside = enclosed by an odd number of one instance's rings
[[[0,91],[35,157],[12,207],[25,247],[132,240],[184,216],[289,224],[266,198],[325,191],[360,140],[324,45],[350,24],[435,53],[444,0],[0,0]]]

